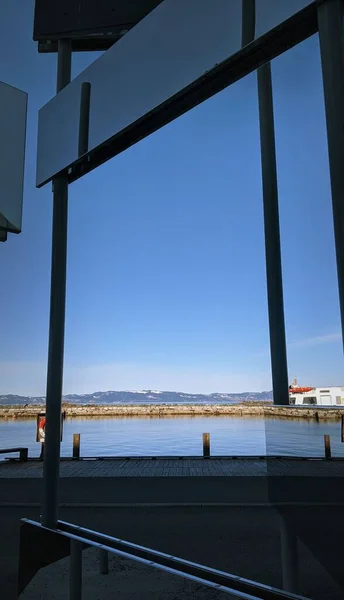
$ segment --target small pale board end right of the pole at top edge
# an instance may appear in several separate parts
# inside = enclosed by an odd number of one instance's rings
[[[256,38],[277,27],[314,0],[256,0]]]

